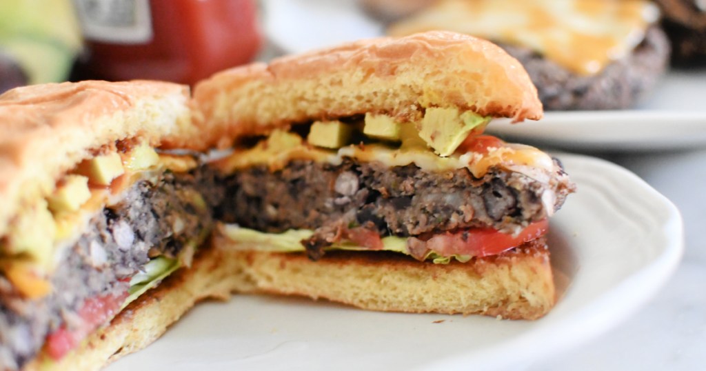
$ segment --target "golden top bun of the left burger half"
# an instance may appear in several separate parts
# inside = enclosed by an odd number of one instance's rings
[[[126,138],[157,146],[176,135],[188,122],[188,99],[186,86],[152,81],[54,83],[0,95],[0,236],[91,150]]]

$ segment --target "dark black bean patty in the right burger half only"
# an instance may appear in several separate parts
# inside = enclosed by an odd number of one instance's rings
[[[225,194],[211,202],[217,205],[215,218],[244,228],[314,230],[304,245],[318,259],[324,247],[356,228],[400,237],[457,228],[515,232],[549,216],[573,191],[556,168],[556,178],[546,184],[500,169],[478,179],[467,169],[427,172],[349,158],[341,165],[295,160],[275,172],[256,166],[223,179],[215,174],[213,183],[225,184]],[[556,195],[552,210],[545,208],[544,192]]]

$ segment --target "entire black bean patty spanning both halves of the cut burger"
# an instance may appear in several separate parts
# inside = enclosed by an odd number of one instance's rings
[[[314,230],[303,241],[312,259],[342,228],[402,237],[474,227],[513,231],[546,218],[573,191],[561,165],[554,167],[540,182],[496,168],[476,178],[467,169],[430,172],[346,158],[340,165],[295,160],[275,172],[256,166],[232,175],[203,165],[142,180],[66,249],[52,295],[21,298],[0,274],[0,365],[21,367],[47,334],[75,323],[85,300],[125,293],[150,257],[176,257],[214,219],[264,232]]]

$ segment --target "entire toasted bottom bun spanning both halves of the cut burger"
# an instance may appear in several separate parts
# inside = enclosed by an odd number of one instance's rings
[[[311,261],[304,254],[202,249],[190,269],[165,279],[118,314],[100,333],[41,369],[99,370],[145,348],[205,298],[275,293],[328,299],[367,310],[486,314],[537,319],[556,301],[543,241],[468,263],[424,264],[385,252],[340,252]],[[35,360],[26,370],[38,370]]]

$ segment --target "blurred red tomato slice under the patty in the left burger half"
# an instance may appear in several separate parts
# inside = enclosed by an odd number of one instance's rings
[[[127,297],[126,291],[121,295],[105,295],[86,300],[78,311],[78,316],[83,320],[80,326],[67,329],[64,324],[47,336],[44,347],[49,357],[54,360],[63,358],[98,326],[112,319]]]

